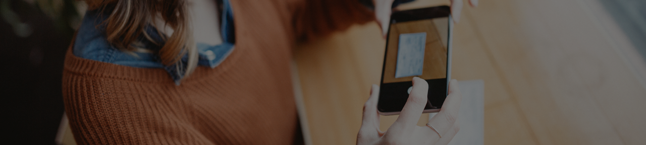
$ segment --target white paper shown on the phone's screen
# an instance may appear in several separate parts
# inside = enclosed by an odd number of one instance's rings
[[[400,34],[395,78],[422,75],[426,32]]]

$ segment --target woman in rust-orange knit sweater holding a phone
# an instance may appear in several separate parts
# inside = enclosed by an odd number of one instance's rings
[[[375,1],[377,16],[388,17],[392,2]],[[79,144],[291,144],[297,130],[291,49],[375,14],[342,0],[87,3],[63,73]],[[426,96],[426,82],[414,82],[412,96]],[[370,130],[378,126],[375,95],[366,102],[358,144],[433,143],[455,134],[454,120],[432,124],[435,134],[421,130],[420,139],[400,136],[414,126],[395,125],[385,135]],[[450,98],[459,106],[459,97]],[[400,118],[419,117],[421,110],[408,106]]]

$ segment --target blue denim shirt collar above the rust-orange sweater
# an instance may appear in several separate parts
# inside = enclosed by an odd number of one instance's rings
[[[222,44],[215,46],[197,43],[198,66],[215,68],[234,50],[235,35],[233,11],[231,10],[229,0],[223,0],[222,2],[223,10],[220,32],[222,33],[223,42]],[[180,84],[180,80],[185,74],[184,70],[186,70],[187,67],[187,55],[184,55],[182,59],[180,59],[182,67],[178,70],[176,68],[177,64],[172,64],[170,66],[163,65],[160,57],[156,53],[136,51],[123,52],[118,50],[118,48],[115,48],[107,41],[105,36],[105,26],[104,24],[101,24],[101,22],[107,19],[107,16],[110,15],[110,13],[107,11],[103,14],[100,13],[100,10],[92,10],[85,13],[83,22],[76,34],[76,41],[74,42],[74,48],[72,50],[74,55],[84,59],[120,64],[123,66],[132,66],[136,68],[163,68],[169,73],[176,85]],[[152,50],[153,52],[160,50],[160,46],[163,46],[164,43],[162,38],[163,36],[160,36],[156,28],[151,24],[145,26],[144,30],[154,41],[161,42],[161,44],[156,45],[141,36],[138,38],[138,42],[141,42],[140,45],[147,50]]]

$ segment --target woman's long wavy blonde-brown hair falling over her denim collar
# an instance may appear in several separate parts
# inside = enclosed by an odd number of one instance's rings
[[[107,41],[127,52],[137,50],[133,45],[143,35],[155,42],[144,30],[145,26],[155,21],[160,15],[165,26],[170,26],[173,33],[162,37],[165,41],[158,53],[161,63],[166,66],[176,64],[176,70],[182,78],[187,77],[197,66],[198,53],[193,39],[193,30],[189,24],[187,2],[185,0],[86,0],[89,10],[101,9],[112,11],[102,22],[105,24]],[[104,13],[100,13],[104,14]],[[161,29],[161,28],[158,28]],[[161,34],[160,34],[161,35]],[[187,66],[181,59],[188,54]]]

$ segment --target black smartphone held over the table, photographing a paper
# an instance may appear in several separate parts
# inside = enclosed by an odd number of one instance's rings
[[[386,37],[377,110],[397,115],[412,89],[413,77],[428,82],[424,113],[437,112],[448,95],[452,18],[449,6],[393,12]]]

